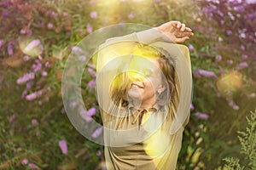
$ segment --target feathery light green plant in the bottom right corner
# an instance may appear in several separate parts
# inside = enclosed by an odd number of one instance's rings
[[[256,168],[256,110],[247,117],[248,127],[246,131],[239,131],[238,139],[241,144],[241,156],[243,162],[238,158],[227,157],[225,167],[228,169],[255,169]]]

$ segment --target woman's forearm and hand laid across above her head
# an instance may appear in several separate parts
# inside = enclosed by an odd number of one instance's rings
[[[192,30],[181,22],[169,21],[145,31],[134,32],[122,37],[108,38],[98,48],[99,54],[94,59],[94,62],[97,65],[97,71],[100,71],[109,60],[125,54],[131,54],[133,48],[137,45],[136,42],[145,44],[153,42],[185,42],[193,35]],[[96,60],[98,61],[96,62]]]

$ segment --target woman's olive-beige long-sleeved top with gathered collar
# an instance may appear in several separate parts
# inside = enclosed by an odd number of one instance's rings
[[[177,164],[177,156],[181,149],[183,129],[189,122],[189,104],[191,99],[192,76],[187,47],[170,42],[159,41],[159,37],[143,39],[147,34],[132,33],[125,37],[108,39],[102,45],[97,55],[96,67],[96,93],[101,105],[102,121],[104,126],[105,159],[108,170],[139,169],[139,170],[172,170]],[[150,35],[150,34],[149,34]],[[155,34],[154,34],[155,35]],[[140,37],[140,39],[138,38]],[[168,107],[154,105],[149,110],[138,110],[129,104],[125,107],[121,104],[113,104],[110,98],[109,85],[122,59],[119,56],[130,54],[130,48],[134,42],[153,43],[165,48],[172,56],[176,57],[177,77],[180,83],[180,105],[177,108],[175,118],[166,119]],[[134,42],[132,42],[134,41]],[[116,43],[119,42],[119,43]],[[125,45],[125,46],[124,46]],[[120,50],[122,49],[122,50]],[[116,61],[113,61],[117,59]],[[109,62],[109,61],[113,62]],[[106,65],[108,65],[106,67]]]

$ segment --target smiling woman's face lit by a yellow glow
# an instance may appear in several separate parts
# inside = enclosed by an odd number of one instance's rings
[[[135,70],[128,73],[131,79],[129,97],[139,101],[141,105],[154,105],[157,94],[164,89],[158,60],[135,57],[131,59],[129,69]]]

